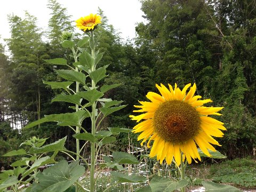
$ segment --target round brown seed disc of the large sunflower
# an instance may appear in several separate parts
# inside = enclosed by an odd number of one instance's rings
[[[184,143],[194,138],[201,124],[196,109],[178,100],[162,103],[155,112],[153,122],[159,136],[173,143]]]

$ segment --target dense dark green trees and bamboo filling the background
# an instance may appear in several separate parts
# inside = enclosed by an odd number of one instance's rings
[[[256,148],[255,6],[252,0],[144,0],[141,9],[147,22],[138,23],[137,37],[126,42],[99,10],[103,20],[97,31],[101,34],[97,47],[104,52],[102,65],[111,64],[105,83],[122,83],[108,95],[128,105],[115,117],[105,119],[102,125],[132,127],[128,115],[133,105],[148,91],[156,91],[155,83],[176,82],[182,87],[195,82],[199,95],[211,98],[214,106],[225,107],[219,118],[228,131],[219,139],[223,146],[219,150],[229,158],[253,155]],[[70,53],[62,49],[59,31],[73,32],[74,28],[66,8],[55,0],[49,0],[48,7],[52,17],[46,33],[41,32],[36,18],[27,12],[25,19],[9,15],[11,38],[6,42],[11,56],[7,57],[0,46],[0,146],[6,146],[1,154],[33,135],[49,137],[48,142],[68,135],[66,147],[75,147],[69,129],[52,123],[29,131],[18,130],[44,115],[68,111],[65,103],[51,103],[60,91],[52,91],[43,81],[60,79],[54,74],[57,67],[44,60],[65,57],[69,61]],[[122,135],[119,137],[123,143],[118,148],[122,148],[127,141]],[[9,161],[2,159],[0,167]]]

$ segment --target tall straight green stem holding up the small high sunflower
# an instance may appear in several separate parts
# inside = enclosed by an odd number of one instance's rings
[[[93,31],[91,31],[91,39],[90,39],[90,45],[92,49],[92,58],[95,58],[95,45],[94,45],[94,36]],[[95,63],[93,63],[92,71],[95,71]],[[96,85],[95,82],[92,79],[92,89],[95,89]],[[96,133],[96,103],[92,103],[92,134],[95,135]],[[95,180],[94,180],[94,172],[95,172],[95,142],[91,142],[91,170],[90,170],[90,191],[94,192],[95,188]]]

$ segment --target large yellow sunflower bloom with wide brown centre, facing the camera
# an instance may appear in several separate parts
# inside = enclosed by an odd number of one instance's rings
[[[142,119],[145,120],[134,126],[133,132],[142,132],[138,136],[138,141],[143,139],[141,145],[149,139],[147,146],[150,148],[150,141],[154,141],[149,156],[151,158],[156,156],[161,164],[164,159],[167,164],[171,164],[173,157],[178,166],[181,160],[185,161],[185,158],[189,164],[192,158],[201,161],[197,146],[210,157],[208,149],[216,151],[211,144],[220,146],[212,136],[223,137],[220,130],[226,130],[222,122],[209,117],[209,115],[221,115],[217,112],[223,107],[204,107],[204,103],[212,101],[198,100],[202,97],[194,96],[196,84],[192,87],[190,85],[187,84],[182,91],[176,83],[174,90],[170,84],[170,90],[163,84],[156,85],[161,95],[148,92],[146,97],[151,102],[139,101],[141,106],[134,106],[141,109],[133,112],[143,112],[143,114],[130,115],[137,123]],[[190,90],[186,94],[189,87]]]

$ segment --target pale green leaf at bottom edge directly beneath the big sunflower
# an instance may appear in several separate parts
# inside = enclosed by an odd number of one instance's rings
[[[151,187],[152,192],[169,192],[180,189],[188,185],[188,181],[186,179],[180,181],[171,181],[170,179],[164,177],[154,177],[149,186]]]

